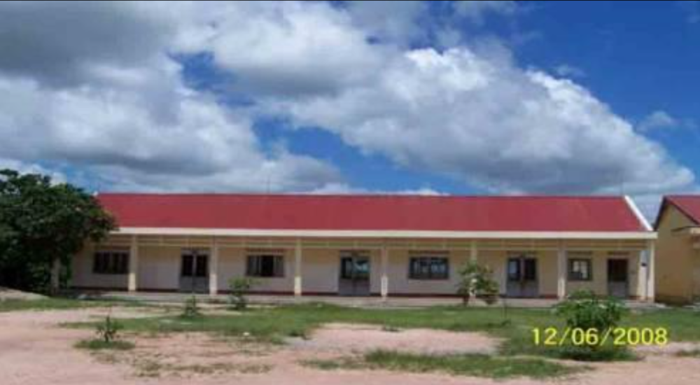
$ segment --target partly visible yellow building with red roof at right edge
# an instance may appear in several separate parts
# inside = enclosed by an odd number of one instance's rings
[[[664,197],[655,228],[664,259],[657,266],[659,300],[700,300],[700,195]]]

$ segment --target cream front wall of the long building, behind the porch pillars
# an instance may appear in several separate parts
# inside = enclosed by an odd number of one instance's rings
[[[104,246],[103,248],[109,249]],[[124,249],[124,246],[120,247]],[[128,249],[128,247],[127,247]],[[200,248],[209,251],[209,248]],[[92,247],[87,247],[73,260],[73,286],[91,288],[127,288],[127,274],[92,274]],[[139,268],[137,288],[139,290],[178,290],[181,252],[179,246],[139,246]],[[426,248],[426,250],[429,250]],[[370,255],[370,293],[381,291],[381,252],[367,251]],[[498,282],[500,293],[506,292],[506,261],[516,252],[500,250],[479,250],[477,261],[491,267],[493,278]],[[228,290],[228,281],[246,272],[246,248],[220,246],[218,258],[218,290]],[[292,293],[294,287],[294,250],[283,251],[284,276],[280,278],[257,278],[253,289],[260,292]],[[416,280],[408,278],[409,249],[388,250],[388,293],[389,295],[454,295],[459,282],[458,271],[470,259],[470,251],[449,251],[449,279]],[[554,250],[536,251],[538,260],[538,290],[540,296],[556,296],[557,253]],[[594,290],[607,294],[606,260],[609,253],[595,251],[593,254],[593,281],[567,282],[567,293],[577,289]],[[338,292],[340,249],[306,248],[302,250],[302,292],[309,294],[335,294]],[[629,289],[631,295],[643,295],[643,281],[638,284],[638,252],[629,253]],[[700,258],[696,258],[696,274],[700,276]],[[663,263],[657,263],[661,266]],[[568,267],[568,265],[567,265]],[[688,268],[687,271],[690,271]],[[700,284],[695,288],[700,293]]]

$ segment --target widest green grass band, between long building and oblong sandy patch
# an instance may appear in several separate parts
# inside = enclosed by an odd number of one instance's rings
[[[432,307],[424,309],[356,309],[328,304],[301,304],[249,309],[238,315],[204,315],[193,318],[168,316],[123,319],[124,330],[144,333],[212,332],[260,342],[281,343],[286,337],[307,337],[323,323],[369,323],[384,330],[433,328],[452,331],[486,332],[503,339],[503,356],[545,356],[581,359],[570,346],[535,346],[532,329],[563,327],[551,309],[510,309],[504,322],[498,308]],[[700,315],[686,309],[664,309],[630,314],[624,326],[668,328],[674,341],[700,341]],[[94,323],[87,324],[91,327]],[[83,325],[84,326],[84,325]],[[624,349],[600,349],[592,360],[633,360]]]

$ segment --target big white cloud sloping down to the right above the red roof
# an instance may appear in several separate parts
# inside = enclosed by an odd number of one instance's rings
[[[409,169],[499,193],[632,193],[694,181],[584,87],[524,71],[508,52],[461,47],[394,57],[380,80],[277,106],[300,125]]]

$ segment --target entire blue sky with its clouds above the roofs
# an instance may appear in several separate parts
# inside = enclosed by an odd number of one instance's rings
[[[698,1],[0,5],[0,166],[88,190],[619,194],[700,172]]]

